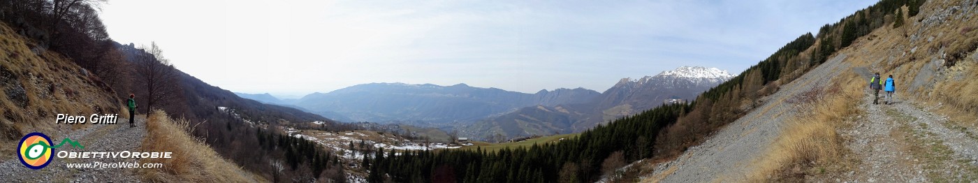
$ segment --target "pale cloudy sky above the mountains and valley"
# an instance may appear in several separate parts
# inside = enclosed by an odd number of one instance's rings
[[[363,83],[584,87],[683,66],[737,74],[875,0],[113,0],[111,38],[242,93]]]

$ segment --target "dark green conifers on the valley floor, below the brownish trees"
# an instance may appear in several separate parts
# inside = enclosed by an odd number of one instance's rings
[[[594,181],[602,169],[617,168],[602,167],[605,161],[651,158],[657,131],[688,110],[686,104],[663,106],[599,125],[578,137],[529,148],[400,153],[379,149],[363,164],[370,170],[371,182],[554,182],[559,178]],[[622,155],[621,160],[606,160],[616,152]]]

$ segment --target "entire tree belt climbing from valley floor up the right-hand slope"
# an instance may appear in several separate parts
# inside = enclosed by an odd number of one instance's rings
[[[616,161],[674,157],[720,127],[756,108],[758,100],[818,67],[838,49],[884,24],[908,19],[923,0],[882,0],[867,9],[806,33],[731,80],[701,94],[689,105],[669,105],[599,125],[580,136],[530,148],[409,151],[383,150],[363,164],[371,182],[591,182],[614,173]],[[901,16],[895,16],[901,14]],[[887,21],[887,17],[890,20]],[[896,18],[899,17],[899,18]],[[808,52],[808,53],[805,53]],[[386,156],[384,156],[386,155]],[[620,156],[613,156],[620,155]],[[608,169],[611,169],[609,171]],[[603,171],[602,171],[603,170]]]

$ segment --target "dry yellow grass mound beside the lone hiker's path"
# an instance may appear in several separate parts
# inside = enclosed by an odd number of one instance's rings
[[[171,159],[142,159],[140,163],[162,163],[161,168],[140,168],[148,182],[255,182],[260,177],[217,155],[210,147],[187,133],[187,120],[172,120],[161,111],[150,114],[141,152],[172,152]]]

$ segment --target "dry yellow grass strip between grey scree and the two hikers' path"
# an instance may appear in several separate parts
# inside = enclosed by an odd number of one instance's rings
[[[849,72],[837,77],[827,86],[840,86],[838,92],[822,93],[820,99],[805,105],[800,114],[790,120],[760,159],[752,162],[749,182],[784,181],[798,175],[824,171],[819,164],[841,160],[844,146],[835,132],[846,118],[858,113],[856,107],[863,95],[862,77]],[[848,84],[843,84],[848,83]]]

